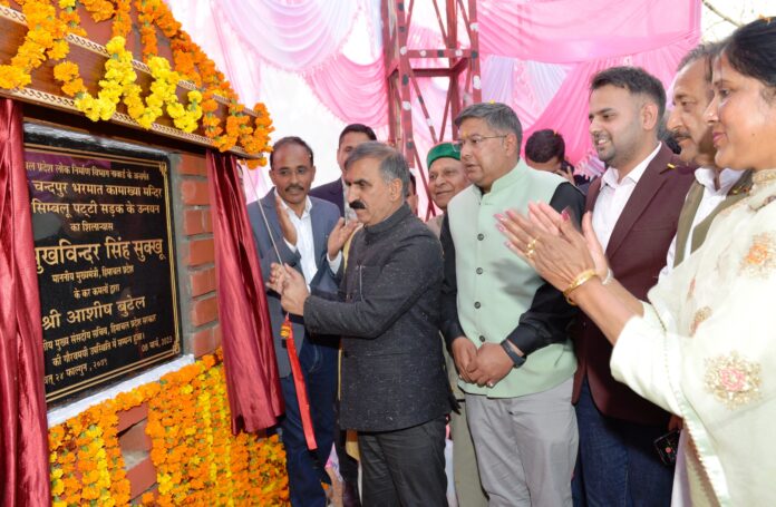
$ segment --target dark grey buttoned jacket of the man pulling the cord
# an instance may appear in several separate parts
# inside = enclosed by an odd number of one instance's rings
[[[442,279],[439,242],[405,205],[356,233],[334,300],[308,298],[308,329],[342,335],[342,428],[392,431],[449,412]]]

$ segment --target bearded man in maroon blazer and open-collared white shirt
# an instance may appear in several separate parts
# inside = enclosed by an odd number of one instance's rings
[[[586,209],[613,276],[640,299],[666,264],[692,183],[692,168],[658,140],[665,107],[661,82],[643,69],[614,67],[592,79],[590,134],[608,169],[591,184]],[[673,468],[653,446],[669,413],[612,378],[612,348],[592,321],[582,316],[574,339],[576,493],[591,506],[670,505]]]

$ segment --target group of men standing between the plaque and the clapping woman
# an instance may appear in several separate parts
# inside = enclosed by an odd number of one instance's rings
[[[293,506],[327,505],[332,443],[346,506],[447,505],[448,421],[460,506],[680,501],[682,479],[656,442],[681,420],[612,378],[601,331],[508,252],[497,218],[536,201],[578,223],[592,212],[611,271],[644,299],[750,186],[747,173],[714,164],[704,111],[715,51],[701,46],[682,60],[668,114],[662,84],[643,69],[592,79],[589,130],[607,167],[592,183],[574,174],[559,133],[534,133],[521,156],[512,108],[467,107],[458,140],[427,154],[440,211],[427,224],[406,160],[369,127],[342,130],[341,177],[317,188],[307,143],[275,143],[274,188],[249,215],[268,281]],[[314,452],[280,338],[287,313]],[[346,430],[358,432],[360,494]]]

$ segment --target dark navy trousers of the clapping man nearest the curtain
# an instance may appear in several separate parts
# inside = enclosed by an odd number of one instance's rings
[[[293,376],[280,379],[285,401],[281,422],[285,447],[289,495],[293,507],[324,507],[321,481],[330,482],[324,467],[334,436],[334,393],[337,390],[337,349],[305,340],[299,362],[307,384],[310,416],[318,449],[310,451],[304,439]]]

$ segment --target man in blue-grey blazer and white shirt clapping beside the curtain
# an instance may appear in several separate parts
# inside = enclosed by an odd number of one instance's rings
[[[308,196],[316,166],[312,149],[304,140],[299,137],[278,140],[270,155],[270,167],[274,188],[248,207],[262,273],[269,277],[270,264],[280,262],[299,270],[310,289],[336,293],[337,272],[342,263],[340,250],[356,224],[345,226],[337,206]],[[329,481],[324,467],[334,436],[339,337],[311,335],[303,320],[292,316],[294,344],[303,377],[294,379],[288,353],[290,345],[281,340],[285,313],[280,296],[268,290],[266,300],[285,402],[281,428],[291,505],[324,507],[327,498],[321,481]],[[308,449],[302,427],[297,390],[300,382],[307,384],[318,445],[314,451]]]

